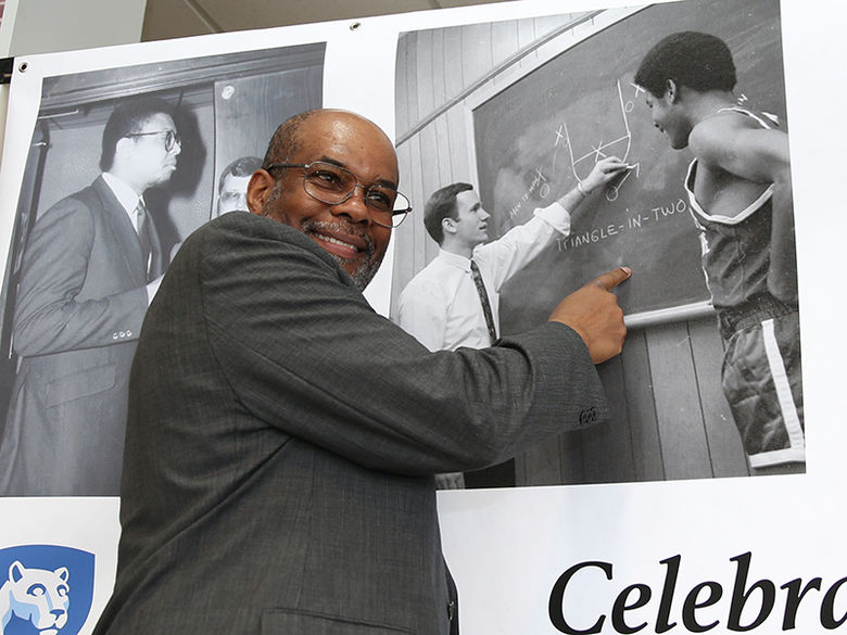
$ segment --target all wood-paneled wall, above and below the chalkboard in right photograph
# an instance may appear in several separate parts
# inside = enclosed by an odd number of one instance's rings
[[[476,91],[510,82],[521,66],[562,48],[559,38],[517,60],[564,14],[404,34],[397,49],[396,130],[401,190],[416,209],[395,232],[392,306],[438,245],[423,229],[428,196],[475,182],[468,143]],[[515,60],[511,64],[506,64]],[[516,460],[518,485],[610,483],[747,475],[747,461],[720,388],[723,347],[715,318],[631,329],[621,356],[599,367],[612,420],[565,433]]]

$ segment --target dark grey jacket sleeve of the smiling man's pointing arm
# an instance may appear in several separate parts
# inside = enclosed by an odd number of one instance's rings
[[[269,424],[366,467],[422,474],[479,468],[605,418],[594,365],[568,327],[431,353],[309,238],[250,223],[204,233],[199,283],[215,357]]]

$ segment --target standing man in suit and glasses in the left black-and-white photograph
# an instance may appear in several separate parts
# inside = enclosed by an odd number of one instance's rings
[[[142,194],[168,181],[180,149],[166,102],[124,102],[103,130],[103,173],[36,221],[14,312],[3,495],[118,494],[129,367],[164,270]]]

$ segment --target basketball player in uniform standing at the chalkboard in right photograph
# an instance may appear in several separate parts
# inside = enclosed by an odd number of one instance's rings
[[[738,104],[732,52],[716,36],[669,35],[634,82],[670,147],[694,154],[684,187],[750,467],[791,470],[805,461],[805,431],[788,136]]]

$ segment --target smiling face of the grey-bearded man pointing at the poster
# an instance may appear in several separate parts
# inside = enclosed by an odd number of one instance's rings
[[[353,173],[365,188],[374,183],[396,188],[394,147],[367,119],[352,113],[320,112],[300,125],[298,140],[286,163],[332,163]],[[273,189],[263,196],[262,214],[312,238],[364,289],[382,262],[391,229],[374,223],[362,188],[343,203],[328,205],[306,193],[303,175],[302,168],[281,169]]]

